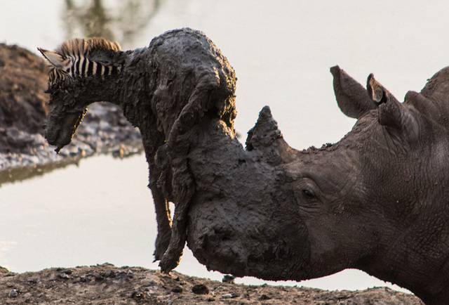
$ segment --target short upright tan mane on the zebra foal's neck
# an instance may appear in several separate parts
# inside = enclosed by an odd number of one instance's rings
[[[121,46],[118,42],[108,41],[102,37],[93,37],[70,39],[55,49],[56,53],[67,57],[89,56],[95,51],[121,51]]]

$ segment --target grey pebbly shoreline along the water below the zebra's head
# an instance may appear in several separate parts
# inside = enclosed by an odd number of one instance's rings
[[[0,137],[6,134],[6,141],[11,143],[7,151],[0,151],[0,184],[45,174],[99,153],[127,157],[142,152],[140,132],[116,105],[95,104],[83,121],[72,143],[59,154],[41,133],[30,134],[15,127],[0,129]]]

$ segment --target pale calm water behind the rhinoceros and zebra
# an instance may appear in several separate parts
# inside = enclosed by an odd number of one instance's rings
[[[328,72],[333,65],[361,83],[374,72],[401,100],[449,63],[447,1],[96,1],[102,5],[96,12],[107,18],[89,15],[94,1],[69,2],[5,1],[0,41],[36,50],[100,33],[135,48],[176,27],[203,30],[239,77],[236,129],[243,141],[264,105],[295,148],[344,136],[354,120],[335,103]],[[93,157],[79,167],[4,184],[0,266],[22,272],[109,261],[156,268],[150,263],[156,228],[146,185],[142,155]],[[221,278],[188,251],[177,271]],[[362,289],[385,283],[344,271],[300,285]]]

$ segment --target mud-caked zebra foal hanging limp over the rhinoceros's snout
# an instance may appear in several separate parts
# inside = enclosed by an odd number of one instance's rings
[[[166,32],[133,51],[102,38],[72,39],[55,51],[39,51],[51,67],[46,138],[56,151],[70,143],[91,103],[115,103],[139,127],[158,221],[155,259],[162,259],[164,271],[175,268],[194,189],[189,132],[206,114],[233,130],[233,68],[210,39],[190,29]],[[168,147],[176,147],[175,153],[167,155]],[[171,229],[168,200],[175,203]]]

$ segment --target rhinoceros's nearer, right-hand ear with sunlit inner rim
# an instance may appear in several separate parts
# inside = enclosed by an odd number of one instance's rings
[[[419,126],[410,108],[399,103],[384,86],[376,81],[373,74],[368,76],[366,88],[368,95],[377,105],[379,123],[385,126],[390,134],[401,136],[407,141],[417,138]]]

